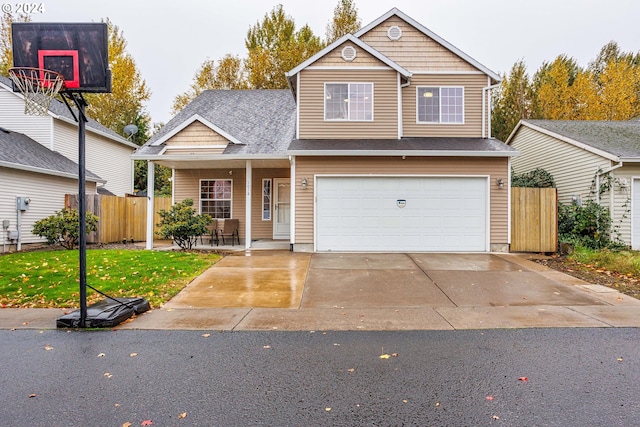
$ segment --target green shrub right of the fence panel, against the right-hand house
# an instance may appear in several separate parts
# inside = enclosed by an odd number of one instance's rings
[[[611,215],[609,210],[593,200],[582,206],[572,203],[558,206],[558,237],[591,249],[601,249],[612,244]]]

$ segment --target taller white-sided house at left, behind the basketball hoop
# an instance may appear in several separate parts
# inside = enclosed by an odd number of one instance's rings
[[[23,133],[49,150],[78,162],[78,123],[63,102],[53,100],[48,116],[26,115],[22,95],[13,92],[8,77],[0,76],[0,112],[1,127]],[[106,181],[105,190],[117,196],[132,193],[131,154],[138,146],[93,119],[89,119],[85,129],[87,169]]]

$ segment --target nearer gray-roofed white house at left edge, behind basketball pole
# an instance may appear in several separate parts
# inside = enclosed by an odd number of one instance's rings
[[[86,171],[88,193],[104,180]],[[0,221],[2,252],[43,239],[31,233],[33,224],[64,208],[64,195],[78,192],[78,164],[51,151],[28,136],[0,128]],[[28,209],[18,211],[16,198],[30,199]],[[20,227],[18,224],[20,223]]]

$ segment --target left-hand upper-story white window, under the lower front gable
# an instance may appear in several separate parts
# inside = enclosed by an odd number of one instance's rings
[[[372,121],[373,83],[326,83],[324,119]]]

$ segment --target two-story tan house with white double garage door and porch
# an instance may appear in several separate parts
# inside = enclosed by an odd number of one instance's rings
[[[247,248],[508,251],[497,74],[392,9],[287,78],[204,92],[133,157],[173,169],[175,202],[239,219]]]

